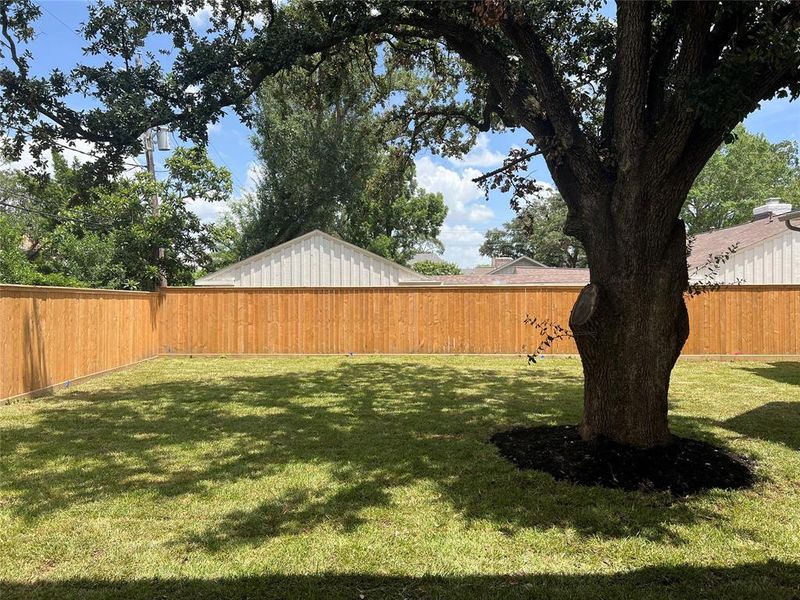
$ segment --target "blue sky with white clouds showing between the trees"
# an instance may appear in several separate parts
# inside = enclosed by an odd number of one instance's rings
[[[75,31],[86,16],[85,4],[79,0],[52,0],[41,2],[42,18],[37,26],[41,32],[31,45],[37,71],[52,67],[70,68],[82,58],[81,39]],[[204,15],[197,15],[198,23]],[[800,102],[773,100],[748,117],[745,125],[760,132],[771,141],[800,140]],[[209,129],[209,156],[218,164],[228,167],[234,178],[236,195],[252,189],[257,177],[250,132],[235,116],[228,115]],[[509,148],[524,145],[524,131],[501,134],[481,134],[473,150],[459,160],[432,156],[423,152],[416,157],[419,183],[441,192],[449,214],[440,239],[445,244],[445,258],[469,267],[481,262],[478,247],[484,232],[510,220],[513,212],[508,199],[493,193],[486,201],[471,179],[481,172],[499,166]],[[163,160],[163,155],[159,161]],[[143,162],[143,159],[141,160]],[[552,184],[544,162],[532,163],[534,176]],[[198,203],[193,207],[205,220],[213,220],[224,206]]]

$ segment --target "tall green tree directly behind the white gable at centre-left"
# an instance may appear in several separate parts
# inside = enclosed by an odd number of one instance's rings
[[[242,231],[239,256],[322,229],[404,263],[438,236],[444,200],[417,187],[414,162],[392,146],[397,126],[375,110],[389,75],[375,72],[374,50],[322,58],[265,81],[256,96],[262,175],[229,220]]]

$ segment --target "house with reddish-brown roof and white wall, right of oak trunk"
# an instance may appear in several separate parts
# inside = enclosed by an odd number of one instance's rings
[[[791,213],[789,204],[767,202],[753,210],[753,221],[717,231],[701,233],[692,244],[689,277],[716,283],[800,284],[800,231],[786,226],[779,217]],[[736,252],[720,265],[713,277],[705,266],[738,244]]]

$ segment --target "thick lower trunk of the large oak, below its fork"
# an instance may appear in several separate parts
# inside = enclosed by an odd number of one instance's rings
[[[570,326],[583,362],[581,436],[586,441],[605,438],[639,447],[671,441],[670,374],[689,335],[683,222],[677,221],[670,238],[660,259],[649,265],[644,245],[633,253],[640,264],[596,261],[600,266],[591,270],[592,283],[573,308]]]

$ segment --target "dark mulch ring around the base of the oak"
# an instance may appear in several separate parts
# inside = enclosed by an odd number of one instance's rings
[[[707,442],[674,437],[662,448],[632,448],[608,440],[584,442],[574,425],[501,431],[490,441],[520,469],[550,473],[579,485],[688,496],[755,483],[752,460]]]

